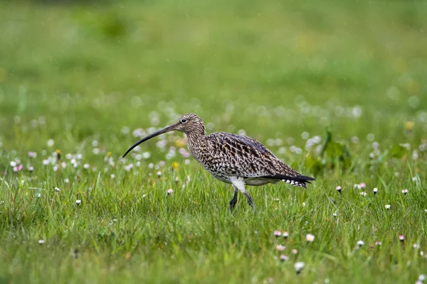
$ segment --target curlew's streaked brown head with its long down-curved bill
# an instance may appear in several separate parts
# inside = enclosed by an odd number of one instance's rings
[[[149,136],[146,136],[139,140],[126,151],[125,155],[127,155],[127,153],[132,151],[132,149],[138,146],[140,143],[143,143],[153,137],[159,136],[160,134],[167,133],[170,131],[181,131],[186,133],[186,135],[204,135],[205,127],[203,121],[201,121],[200,117],[197,114],[184,114],[174,124],[167,126],[159,131],[156,131],[150,134]],[[122,158],[125,158],[125,155],[123,155]]]

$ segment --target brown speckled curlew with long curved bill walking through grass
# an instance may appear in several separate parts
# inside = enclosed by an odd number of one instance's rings
[[[215,178],[233,185],[231,211],[237,203],[238,191],[245,195],[248,204],[255,209],[245,185],[265,185],[283,181],[296,187],[306,187],[310,180],[315,180],[300,175],[285,165],[267,147],[251,137],[227,132],[206,135],[203,121],[196,114],[184,114],[175,124],[142,138],[132,145],[125,155],[140,143],[169,131],[184,132],[191,155]],[[122,158],[125,158],[125,155]]]

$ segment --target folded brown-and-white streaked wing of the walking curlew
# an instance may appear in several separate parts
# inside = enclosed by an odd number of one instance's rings
[[[216,132],[207,138],[214,153],[212,162],[224,174],[248,178],[273,178],[278,174],[292,178],[299,175],[251,137]]]

